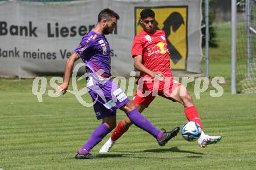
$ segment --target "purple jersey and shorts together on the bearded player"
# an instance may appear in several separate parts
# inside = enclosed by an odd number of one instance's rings
[[[93,98],[94,111],[98,119],[116,115],[130,99],[111,80],[111,50],[102,34],[88,32],[74,52],[87,64],[87,90]]]

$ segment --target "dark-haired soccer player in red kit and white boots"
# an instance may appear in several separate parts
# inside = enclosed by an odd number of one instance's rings
[[[179,82],[173,81],[165,32],[155,29],[154,11],[144,9],[141,11],[140,16],[143,31],[136,35],[131,49],[134,67],[141,72],[137,81],[138,88],[133,103],[136,104],[136,108],[141,113],[157,95],[173,102],[179,102],[184,106],[187,120],[197,122],[202,128],[197,109],[186,87],[179,84]],[[99,152],[108,152],[130,125],[132,125],[132,122],[128,117],[120,121],[111,138],[102,146]],[[205,147],[219,140],[221,140],[221,136],[205,135],[202,131],[198,139],[198,145]]]

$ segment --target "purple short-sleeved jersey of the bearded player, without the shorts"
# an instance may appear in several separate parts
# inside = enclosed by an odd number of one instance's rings
[[[111,50],[104,35],[88,32],[74,52],[87,64],[88,73],[97,73],[99,78],[111,77]]]

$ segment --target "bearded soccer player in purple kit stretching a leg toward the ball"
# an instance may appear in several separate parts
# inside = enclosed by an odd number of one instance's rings
[[[67,90],[74,62],[81,58],[87,67],[87,91],[93,98],[95,114],[98,120],[102,119],[102,124],[77,151],[76,159],[94,158],[90,150],[115,128],[116,109],[118,108],[125,111],[134,125],[154,136],[161,146],[179,132],[179,127],[169,132],[157,129],[138,112],[122,89],[111,80],[111,50],[105,35],[115,30],[118,19],[119,15],[111,9],[103,9],[99,12],[95,28],[81,39],[80,45],[67,59],[63,84],[56,89],[57,93]]]

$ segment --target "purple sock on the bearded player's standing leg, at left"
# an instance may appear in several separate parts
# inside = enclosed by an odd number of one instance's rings
[[[89,140],[87,140],[86,144],[79,150],[79,154],[87,154],[93,147],[101,142],[101,140],[111,132],[111,129],[108,128],[105,124],[99,125],[91,134]]]

